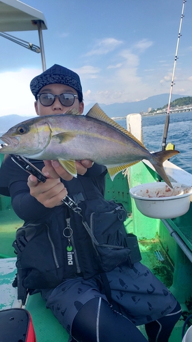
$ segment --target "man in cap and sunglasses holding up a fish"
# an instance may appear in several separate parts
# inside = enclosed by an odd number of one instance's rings
[[[72,70],[54,65],[30,86],[39,116],[69,108],[83,113],[81,81]],[[105,166],[76,161],[73,179],[58,161],[32,162],[47,176],[45,183],[28,178],[10,157],[0,171],[0,192],[10,194],[14,211],[25,220],[17,233],[19,246],[20,241],[25,245],[21,252],[18,248],[21,298],[26,289],[40,291],[70,341],[144,342],[136,326],[146,324],[148,341],[167,342],[180,305],[147,267],[128,261],[121,221],[125,211],[103,198]],[[81,215],[61,201],[66,194],[78,203]],[[97,246],[100,237],[104,244],[113,241],[114,248]]]

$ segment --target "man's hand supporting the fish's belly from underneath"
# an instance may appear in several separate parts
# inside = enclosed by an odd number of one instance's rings
[[[49,176],[52,178],[58,178],[61,177],[65,181],[71,181],[72,175],[69,174],[60,164],[57,160],[44,160],[45,167],[42,169],[42,172],[45,174],[45,176]],[[81,160],[81,161],[75,161],[75,165],[77,168],[77,173],[85,174],[87,172],[87,168],[91,168],[93,163],[90,160]]]

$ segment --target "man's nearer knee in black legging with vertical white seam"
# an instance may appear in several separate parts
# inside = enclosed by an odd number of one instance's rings
[[[72,337],[83,342],[146,342],[137,327],[102,298],[84,304],[72,323]]]

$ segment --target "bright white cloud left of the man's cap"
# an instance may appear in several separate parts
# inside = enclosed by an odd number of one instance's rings
[[[42,73],[40,69],[28,68],[0,73],[0,116],[9,114],[36,115],[34,96],[31,94],[29,83],[33,77],[40,73]]]

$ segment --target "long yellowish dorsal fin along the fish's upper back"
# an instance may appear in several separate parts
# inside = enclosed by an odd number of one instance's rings
[[[95,118],[97,120],[106,122],[107,124],[110,124],[112,127],[114,127],[115,129],[118,129],[119,131],[121,131],[122,133],[124,133],[125,135],[128,135],[128,137],[131,137],[131,139],[135,140],[135,142],[137,142],[137,144],[139,144],[141,147],[147,149],[138,139],[137,137],[135,137],[133,134],[131,134],[130,132],[128,132],[126,129],[124,129],[122,126],[120,126],[120,124],[118,124],[117,122],[115,122],[113,119],[109,118],[109,116],[107,116],[107,114],[105,114],[105,112],[99,107],[98,103],[96,103],[86,114],[86,116],[90,116],[91,118]]]

